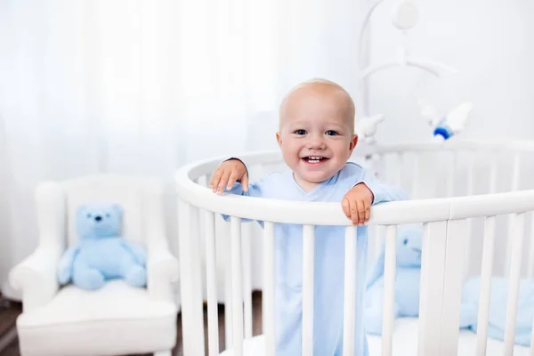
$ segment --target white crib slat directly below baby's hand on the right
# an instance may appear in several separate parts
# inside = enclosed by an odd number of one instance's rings
[[[356,226],[345,228],[345,255],[344,255],[344,320],[343,320],[343,354],[354,354],[354,322],[356,297]]]

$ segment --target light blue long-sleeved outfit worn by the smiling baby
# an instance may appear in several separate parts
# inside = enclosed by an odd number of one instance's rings
[[[360,182],[365,183],[373,192],[373,205],[408,198],[404,191],[379,182],[373,174],[352,162],[310,191],[303,190],[295,182],[292,172],[268,174],[259,182],[249,184],[247,193],[239,182],[227,191],[257,198],[341,204],[344,195]],[[223,217],[225,220],[230,218]],[[343,354],[344,230],[344,226],[315,227],[313,354],[317,356]],[[357,229],[356,295],[363,295],[359,292],[365,290],[367,231],[367,226],[359,226]],[[295,356],[302,354],[303,227],[276,223],[274,238],[276,355]],[[363,301],[357,300],[354,354],[358,356],[368,355],[362,311]]]

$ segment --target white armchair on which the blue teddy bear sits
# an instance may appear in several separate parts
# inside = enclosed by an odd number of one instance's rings
[[[58,285],[61,254],[77,239],[77,206],[102,201],[123,206],[125,239],[147,248],[146,288],[122,280],[96,291]],[[170,355],[180,307],[173,291],[179,267],[168,248],[160,184],[111,174],[45,182],[36,190],[36,211],[38,247],[10,273],[22,295],[21,355]]]

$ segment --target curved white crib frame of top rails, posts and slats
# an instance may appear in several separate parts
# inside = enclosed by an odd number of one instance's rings
[[[469,151],[510,153],[514,157],[512,187],[509,192],[496,193],[497,168],[491,163],[490,193],[473,194],[473,174],[469,175],[467,195],[452,198],[426,198],[401,202],[385,203],[372,207],[368,225],[384,225],[385,265],[384,265],[384,323],[382,350],[384,355],[392,354],[395,275],[395,237],[397,225],[423,223],[423,252],[421,267],[421,287],[419,306],[418,354],[456,354],[458,340],[461,284],[463,280],[462,261],[469,243],[462,239],[470,229],[473,218],[485,220],[483,252],[481,263],[481,303],[477,333],[477,354],[485,354],[488,315],[490,310],[490,277],[493,267],[495,223],[498,215],[510,214],[509,232],[516,239],[509,239],[510,298],[506,310],[506,354],[514,347],[514,325],[517,314],[517,297],[521,278],[522,237],[524,235],[525,214],[534,210],[534,190],[517,190],[519,187],[520,158],[524,153],[534,152],[534,142],[446,142],[445,144],[395,144],[369,147],[359,154],[366,155],[372,162],[378,162],[385,155],[436,152],[445,150],[458,154]],[[250,166],[265,165],[281,161],[279,152],[255,152],[239,156]],[[241,256],[241,222],[243,219],[261,220],[263,229],[263,333],[266,355],[274,355],[274,249],[273,224],[294,223],[303,225],[303,355],[312,355],[312,290],[313,290],[313,227],[315,225],[345,226],[345,295],[344,295],[344,354],[353,354],[352,340],[355,311],[355,266],[356,239],[355,227],[344,215],[339,203],[279,201],[267,198],[218,196],[206,188],[209,174],[224,158],[212,158],[183,166],[175,174],[178,193],[179,244],[181,264],[182,323],[184,355],[198,355],[204,350],[204,328],[201,296],[201,266],[198,244],[199,217],[203,218],[206,238],[206,288],[208,308],[208,354],[218,355],[217,291],[215,271],[215,214],[231,216],[231,274],[227,271],[227,281],[231,279],[231,301],[225,300],[227,316],[227,346],[231,344],[234,354],[243,354],[244,329],[251,336],[251,306],[245,294],[243,298],[243,258]],[[415,170],[417,172],[417,162]],[[449,169],[454,177],[454,168]],[[417,188],[417,179],[413,187]],[[450,181],[449,181],[450,182]],[[454,188],[449,183],[449,193]],[[451,195],[451,194],[449,194]],[[198,212],[204,214],[199,216]],[[534,219],[533,219],[534,221]],[[533,223],[534,227],[534,223]],[[534,231],[534,229],[532,229]],[[432,239],[429,237],[432,236]],[[510,235],[508,235],[510,236]],[[247,239],[245,239],[247,240]],[[244,240],[244,242],[245,242]],[[246,247],[247,251],[247,247]],[[534,260],[534,249],[530,257]],[[246,265],[247,266],[247,265]],[[245,288],[247,292],[249,290]],[[228,290],[227,290],[228,293]],[[227,294],[228,295],[228,294]],[[248,303],[247,303],[248,299]],[[245,302],[245,318],[243,311]],[[245,324],[245,325],[244,325]],[[228,328],[231,328],[229,330]]]

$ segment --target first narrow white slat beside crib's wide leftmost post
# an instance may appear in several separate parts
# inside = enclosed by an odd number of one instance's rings
[[[204,220],[206,226],[207,341],[209,356],[214,356],[219,354],[214,213],[205,211]]]

